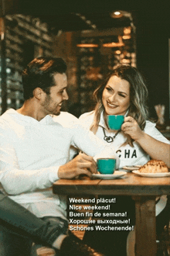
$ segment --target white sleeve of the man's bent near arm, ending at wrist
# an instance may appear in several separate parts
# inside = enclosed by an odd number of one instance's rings
[[[39,170],[22,170],[19,168],[15,149],[8,141],[5,130],[0,130],[0,178],[3,189],[9,195],[46,189],[58,179],[59,166]]]

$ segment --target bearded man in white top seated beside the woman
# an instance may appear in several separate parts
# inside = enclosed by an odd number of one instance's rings
[[[23,71],[22,84],[25,98],[22,108],[17,111],[8,109],[0,117],[3,189],[11,195],[11,199],[39,218],[58,223],[60,234],[56,247],[63,248],[61,244],[64,243],[70,244],[70,247],[76,244],[74,251],[79,251],[78,242],[68,237],[65,230],[66,203],[62,196],[53,195],[50,187],[58,178],[74,178],[82,174],[91,176],[97,172],[93,157],[116,157],[116,154],[113,148],[105,146],[93,133],[84,130],[76,117],[65,113],[64,118],[58,119],[62,103],[68,99],[63,59],[36,58]],[[70,146],[79,148],[85,154],[69,161]],[[2,250],[10,255],[9,251],[14,248],[12,234],[8,234],[3,227],[2,234],[5,237],[2,239]],[[20,237],[17,237],[15,245],[17,243],[20,243],[20,254],[27,255],[32,240],[22,243],[22,247]],[[93,255],[89,249],[85,251],[84,255]],[[80,251],[78,254],[81,254]]]

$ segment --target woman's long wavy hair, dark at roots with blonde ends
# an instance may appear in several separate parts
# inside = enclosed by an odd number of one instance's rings
[[[118,67],[114,68],[114,70],[107,75],[104,83],[102,83],[93,92],[93,97],[96,99],[97,105],[94,109],[94,119],[92,125],[90,126],[90,130],[92,130],[94,134],[97,133],[98,125],[100,122],[100,114],[102,111],[104,111],[104,104],[102,102],[104,88],[106,87],[110,77],[114,75],[129,82],[130,107],[128,109],[128,116],[132,116],[137,121],[141,130],[144,130],[146,119],[148,119],[148,89],[145,85],[143,76],[137,70],[137,68],[128,65],[119,65]],[[104,117],[106,122],[105,114]],[[131,140],[128,136],[127,143],[133,147],[132,141],[133,140]]]

